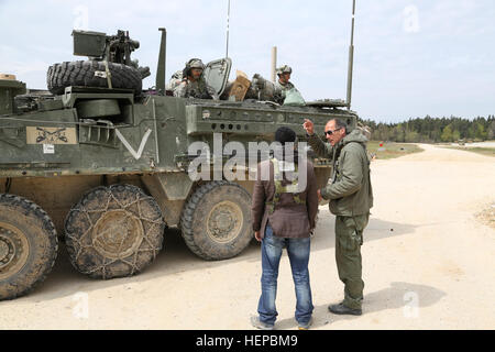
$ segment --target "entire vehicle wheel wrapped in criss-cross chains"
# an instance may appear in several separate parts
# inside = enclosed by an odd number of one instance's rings
[[[131,185],[90,190],[65,220],[74,267],[102,279],[131,276],[151,264],[162,250],[164,230],[156,201]]]

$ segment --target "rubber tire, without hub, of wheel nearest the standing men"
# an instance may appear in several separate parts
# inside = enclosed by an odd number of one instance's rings
[[[231,201],[242,211],[239,234],[228,242],[218,242],[208,234],[206,219],[221,201]],[[182,235],[189,250],[207,261],[220,261],[240,254],[250,244],[254,232],[251,224],[251,195],[241,186],[226,180],[210,182],[189,197],[180,219]]]

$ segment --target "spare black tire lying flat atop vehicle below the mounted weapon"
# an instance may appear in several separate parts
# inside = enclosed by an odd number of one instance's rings
[[[131,66],[108,63],[112,88],[133,89],[140,94],[143,86],[141,73]],[[54,64],[48,67],[46,85],[54,95],[63,95],[66,87],[108,88],[107,78],[95,76],[95,72],[106,72],[103,62],[77,61]]]

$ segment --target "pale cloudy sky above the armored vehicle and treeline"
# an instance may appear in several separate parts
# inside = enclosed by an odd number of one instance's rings
[[[0,73],[46,87],[53,63],[73,56],[73,28],[141,42],[133,57],[154,85],[160,26],[167,29],[167,79],[190,57],[226,54],[227,0],[0,0]],[[271,48],[293,67],[306,100],[345,98],[351,0],[231,0],[229,56],[235,69],[270,77]],[[493,0],[356,0],[353,110],[402,121],[495,114]]]

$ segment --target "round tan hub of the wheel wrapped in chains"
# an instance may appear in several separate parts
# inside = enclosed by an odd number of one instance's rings
[[[109,258],[123,258],[140,248],[143,237],[143,226],[136,217],[125,210],[110,210],[95,224],[92,244]]]

